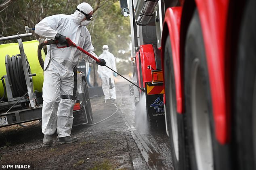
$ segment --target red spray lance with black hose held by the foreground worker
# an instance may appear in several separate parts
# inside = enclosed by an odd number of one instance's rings
[[[92,54],[88,53],[86,50],[82,49],[80,46],[77,46],[75,43],[73,43],[73,41],[71,41],[71,39],[69,39],[68,37],[66,37],[66,40],[67,40],[67,46],[57,46],[57,48],[65,48],[65,47],[70,47],[70,46],[73,46],[73,47],[76,47],[78,50],[80,50],[81,52],[83,52],[84,54],[86,54],[87,56],[89,56],[90,58],[92,58],[93,60],[95,60],[96,62],[100,62],[100,60],[96,57],[94,57]],[[50,44],[58,44],[58,40],[46,40],[46,41],[43,41],[39,44],[38,46],[38,60],[39,60],[39,63],[41,65],[42,68],[44,68],[44,60],[42,59],[42,54],[41,54],[41,50],[42,50],[42,47],[45,46],[45,45],[50,45]],[[112,68],[110,68],[109,66],[105,65],[107,68],[109,68],[110,70],[112,70],[114,73],[120,75],[118,72],[116,72],[115,70],[113,70]],[[121,77],[123,77],[124,79],[126,79],[124,76],[120,75]],[[136,85],[135,83],[133,83],[132,81],[126,79],[127,81],[129,81],[130,83],[132,83],[133,85],[135,85],[136,87],[138,87],[139,89],[141,89],[141,91],[143,91],[145,93],[145,89],[139,87],[138,85]]]

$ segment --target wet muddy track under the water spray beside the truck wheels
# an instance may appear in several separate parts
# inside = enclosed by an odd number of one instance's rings
[[[124,122],[140,149],[143,159],[147,162],[147,168],[173,170],[170,143],[165,126],[150,129],[145,115],[145,101],[141,100],[137,106],[134,106],[133,97],[129,94],[128,83],[120,82],[116,86]],[[136,167],[134,168],[136,169]]]

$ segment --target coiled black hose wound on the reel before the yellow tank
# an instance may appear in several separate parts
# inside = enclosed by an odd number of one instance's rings
[[[6,67],[6,69],[8,69],[7,74],[8,73],[10,74],[8,76],[10,77],[10,80],[8,81],[13,86],[12,88],[13,97],[20,97],[27,92],[27,84],[26,84],[26,79],[23,71],[21,55],[17,54],[16,56],[12,56],[8,58],[7,62],[8,62],[8,67]],[[29,64],[28,64],[28,68],[30,68]]]

